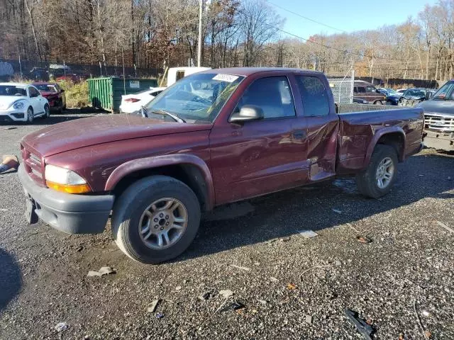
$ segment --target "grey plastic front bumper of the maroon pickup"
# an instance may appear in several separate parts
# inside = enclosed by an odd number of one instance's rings
[[[75,195],[39,186],[21,164],[18,169],[26,199],[32,200],[36,215],[51,227],[69,234],[104,231],[114,205],[112,195]]]

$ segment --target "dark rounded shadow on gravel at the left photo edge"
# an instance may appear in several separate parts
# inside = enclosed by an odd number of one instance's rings
[[[21,269],[16,260],[0,249],[0,312],[21,291]]]

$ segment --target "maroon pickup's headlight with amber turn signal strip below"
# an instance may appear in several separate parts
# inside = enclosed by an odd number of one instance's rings
[[[92,191],[87,181],[74,171],[55,165],[45,166],[45,183],[49,188],[64,193],[87,193]]]

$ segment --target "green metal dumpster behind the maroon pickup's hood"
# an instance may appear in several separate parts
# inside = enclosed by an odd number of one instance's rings
[[[87,79],[89,99],[94,108],[115,112],[120,110],[121,96],[157,87],[157,79],[121,79],[102,77]]]

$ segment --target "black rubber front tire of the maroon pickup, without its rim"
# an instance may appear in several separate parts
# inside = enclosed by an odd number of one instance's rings
[[[175,198],[187,210],[187,226],[175,244],[165,249],[152,249],[139,234],[139,222],[150,204],[161,198]],[[118,248],[135,261],[160,263],[177,257],[187,249],[200,224],[200,204],[186,184],[168,176],[150,176],[136,181],[116,200],[111,220]],[[151,229],[151,227],[150,227]]]

